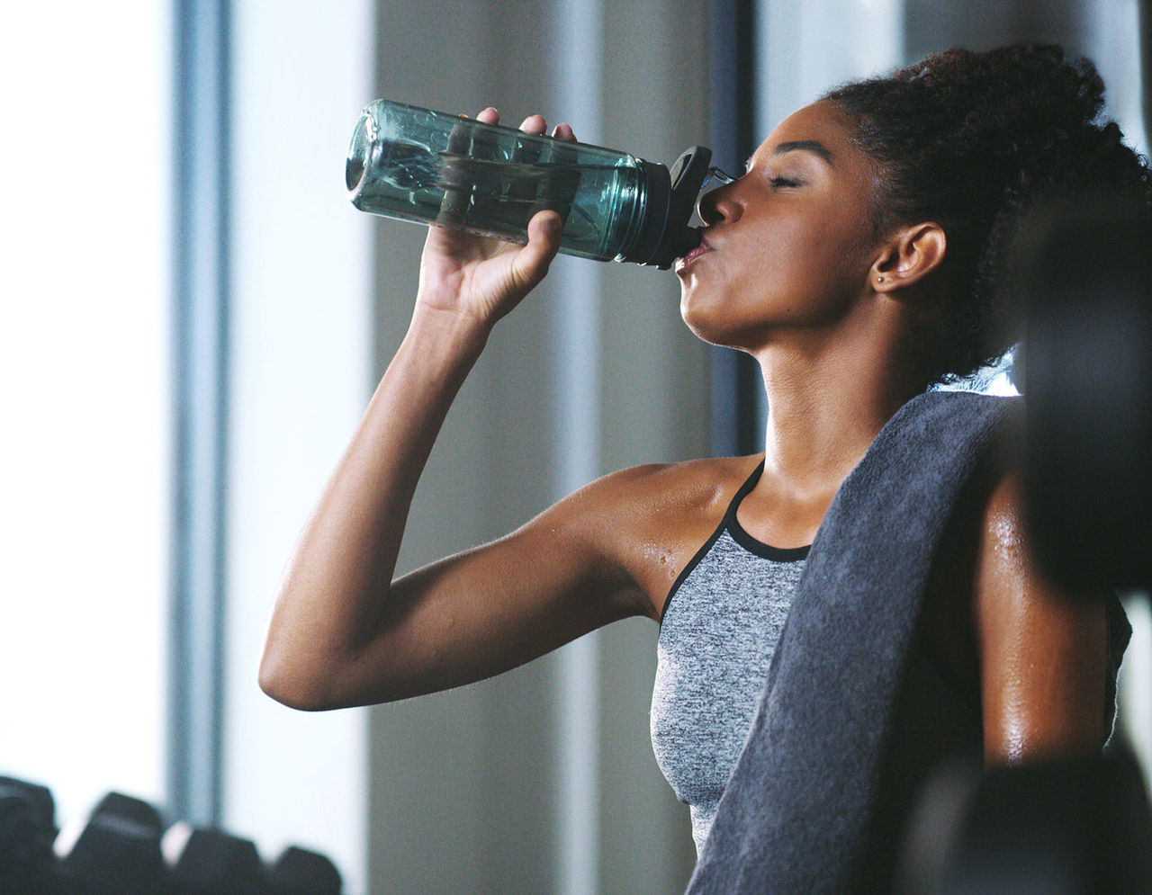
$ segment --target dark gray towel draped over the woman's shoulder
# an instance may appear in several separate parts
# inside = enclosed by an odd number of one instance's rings
[[[841,485],[689,893],[855,888],[937,543],[1017,403],[961,392],[920,395]]]

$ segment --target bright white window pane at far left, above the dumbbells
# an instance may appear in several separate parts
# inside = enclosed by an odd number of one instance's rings
[[[170,12],[0,29],[0,773],[62,819],[165,784]]]

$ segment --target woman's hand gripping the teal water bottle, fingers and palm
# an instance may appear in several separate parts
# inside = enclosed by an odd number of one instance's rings
[[[477,115],[488,124],[499,119],[491,107]],[[525,134],[544,134],[545,128],[540,115],[521,124]],[[553,136],[575,142],[568,124],[560,124]],[[491,327],[544,279],[560,248],[561,227],[556,212],[537,212],[529,222],[525,245],[430,227],[420,259],[417,310],[452,312]]]

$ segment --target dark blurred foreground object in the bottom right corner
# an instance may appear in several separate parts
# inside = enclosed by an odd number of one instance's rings
[[[1105,759],[945,768],[903,850],[904,895],[1152,892],[1152,814],[1127,751]]]

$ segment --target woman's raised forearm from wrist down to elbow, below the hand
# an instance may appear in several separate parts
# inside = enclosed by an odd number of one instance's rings
[[[274,698],[326,701],[371,642],[417,481],[486,336],[467,314],[417,305],[285,576],[260,668]]]

